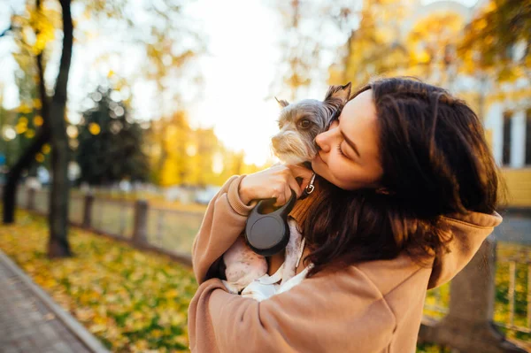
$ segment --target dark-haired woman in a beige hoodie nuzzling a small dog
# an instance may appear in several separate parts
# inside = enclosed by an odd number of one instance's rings
[[[321,188],[292,211],[306,243],[296,273],[312,264],[307,277],[260,303],[215,278],[251,200],[285,203],[310,172],[276,166],[231,178],[192,250],[192,351],[412,352],[427,289],[455,276],[502,221],[481,122],[442,88],[375,81],[316,142]]]

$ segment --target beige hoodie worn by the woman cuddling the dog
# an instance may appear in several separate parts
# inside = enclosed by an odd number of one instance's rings
[[[257,302],[227,293],[208,273],[242,234],[251,210],[238,195],[242,177],[212,199],[192,249],[200,284],[189,305],[193,352],[414,352],[427,288],[451,280],[502,221],[497,213],[448,218],[451,252],[433,269],[405,255],[370,261],[319,272]]]

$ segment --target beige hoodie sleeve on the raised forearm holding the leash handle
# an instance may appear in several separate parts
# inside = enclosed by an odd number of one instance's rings
[[[203,222],[192,245],[192,266],[197,283],[212,277],[212,265],[242,234],[245,220],[253,208],[240,199],[238,188],[245,177],[233,176],[219,189],[204,213]]]

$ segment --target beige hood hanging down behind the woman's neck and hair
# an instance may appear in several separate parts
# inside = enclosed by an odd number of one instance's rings
[[[433,270],[427,285],[436,288],[451,280],[481,247],[481,243],[492,233],[495,226],[502,223],[502,217],[495,211],[492,214],[469,212],[444,217],[450,225],[453,236],[448,244],[450,252],[435,257]]]

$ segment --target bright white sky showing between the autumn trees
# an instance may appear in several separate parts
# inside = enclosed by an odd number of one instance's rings
[[[11,7],[19,10],[24,4],[22,0],[8,1],[11,6],[0,6],[0,31],[9,24]],[[430,2],[433,1],[425,1]],[[461,0],[469,6],[476,2]],[[195,99],[186,102],[190,123],[194,127],[214,127],[224,145],[244,151],[247,163],[266,163],[267,158],[272,157],[269,139],[277,131],[276,119],[280,111],[270,92],[271,83],[278,75],[276,67],[281,55],[278,42],[281,19],[275,11],[274,2],[197,0],[187,11],[206,35],[208,50],[208,55],[196,63],[204,76],[203,90]],[[115,39],[102,37],[84,48],[74,47],[69,106],[81,105],[83,96],[89,90],[79,88],[97,80],[96,72],[113,70],[124,76],[135,73],[135,49],[127,53],[130,60],[111,58],[108,63],[99,64],[97,70],[91,64],[96,55],[115,45],[112,42]],[[10,54],[12,47],[10,41],[0,38],[0,89],[4,90],[6,108],[18,104],[18,89],[13,78],[16,64]],[[326,64],[332,64],[332,61]],[[47,70],[46,78],[53,81],[56,74],[52,67]],[[315,84],[308,91],[307,98],[322,99],[326,89],[326,82]],[[149,83],[140,82],[131,93],[135,97],[142,96],[135,104],[135,116],[139,119],[150,119],[153,111],[159,109]],[[71,109],[73,122],[79,119],[74,110]]]

